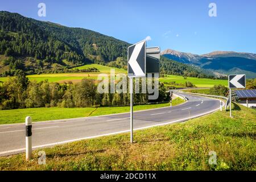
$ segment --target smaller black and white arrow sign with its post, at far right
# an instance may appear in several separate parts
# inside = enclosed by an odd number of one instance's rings
[[[243,89],[245,87],[246,87],[246,76],[245,75],[229,75],[229,113],[230,113],[230,118],[232,118],[231,89]]]

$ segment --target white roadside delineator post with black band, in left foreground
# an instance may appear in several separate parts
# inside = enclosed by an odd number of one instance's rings
[[[32,154],[32,119],[30,116],[26,117],[26,160],[31,159]]]

